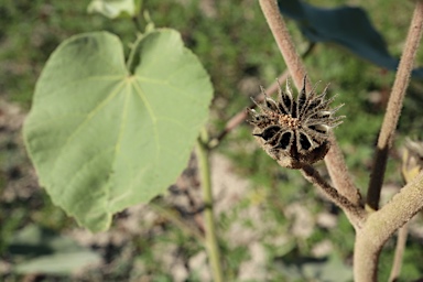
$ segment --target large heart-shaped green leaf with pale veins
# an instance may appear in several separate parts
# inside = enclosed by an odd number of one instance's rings
[[[163,193],[208,116],[209,77],[176,31],[148,33],[133,50],[131,75],[110,33],[63,42],[41,74],[23,129],[41,185],[93,231]]]

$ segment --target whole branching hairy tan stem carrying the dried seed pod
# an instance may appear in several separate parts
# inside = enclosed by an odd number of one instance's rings
[[[305,75],[304,66],[296,55],[291,36],[276,0],[259,0],[270,30],[278,43],[282,56],[291,72],[295,86],[301,89]],[[334,203],[344,209],[356,228],[354,252],[354,272],[357,282],[377,281],[379,253],[384,242],[394,231],[410,220],[423,208],[423,173],[397,194],[390,203],[378,210],[380,187],[386,171],[389,148],[392,144],[394,130],[402,108],[402,100],[410,79],[413,61],[422,35],[423,0],[415,6],[412,23],[406,39],[404,52],[399,65],[395,83],[388,102],[378,140],[376,163],[371,174],[367,204],[375,213],[367,213],[361,207],[360,194],[354,186],[347,171],[344,156],[335,137],[330,137],[332,149],[325,158],[330,177],[337,189],[328,185],[312,166],[304,166],[302,172],[306,178],[319,187]],[[307,91],[311,89],[306,82]]]

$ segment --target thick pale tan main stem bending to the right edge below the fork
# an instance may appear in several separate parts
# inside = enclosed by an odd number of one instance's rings
[[[377,281],[379,252],[398,228],[423,208],[423,172],[381,209],[370,214],[357,230],[354,252],[355,281]]]

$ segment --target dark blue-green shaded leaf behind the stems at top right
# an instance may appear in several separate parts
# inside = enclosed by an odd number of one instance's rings
[[[312,42],[333,42],[356,55],[390,70],[397,70],[399,59],[392,57],[387,44],[360,8],[316,8],[300,0],[278,1],[281,13],[292,18]],[[413,70],[423,78],[423,68]]]

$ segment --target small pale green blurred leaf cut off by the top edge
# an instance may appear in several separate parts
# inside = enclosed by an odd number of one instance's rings
[[[89,13],[100,13],[109,19],[137,17],[142,0],[93,0],[88,6]]]

